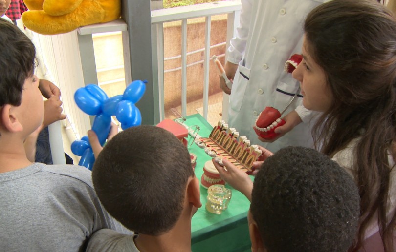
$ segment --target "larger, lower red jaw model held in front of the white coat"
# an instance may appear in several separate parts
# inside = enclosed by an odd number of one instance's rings
[[[264,139],[272,139],[279,134],[275,133],[275,129],[284,125],[285,120],[281,119],[281,113],[273,107],[265,107],[263,112],[253,126],[254,131]]]

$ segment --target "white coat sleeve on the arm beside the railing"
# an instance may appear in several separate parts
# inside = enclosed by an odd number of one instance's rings
[[[249,35],[250,21],[252,18],[253,0],[241,0],[242,10],[240,16],[240,24],[236,29],[236,36],[231,39],[230,46],[227,49],[227,61],[239,64],[246,49],[246,40]]]

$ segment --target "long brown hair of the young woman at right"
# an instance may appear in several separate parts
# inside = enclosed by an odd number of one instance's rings
[[[333,104],[315,124],[313,136],[329,156],[353,139],[353,169],[361,198],[356,246],[378,213],[386,251],[393,251],[396,218],[387,217],[390,172],[396,157],[396,21],[373,0],[333,0],[305,21],[309,55],[325,71]],[[352,157],[351,157],[352,158]]]

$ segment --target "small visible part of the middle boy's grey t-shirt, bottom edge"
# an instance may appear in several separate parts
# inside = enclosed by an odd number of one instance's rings
[[[139,252],[134,238],[137,235],[127,235],[111,229],[101,229],[89,239],[87,252]]]

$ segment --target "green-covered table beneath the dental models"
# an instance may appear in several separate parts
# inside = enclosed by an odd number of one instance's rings
[[[208,137],[213,127],[199,114],[186,117],[184,124],[198,125],[199,135]],[[191,136],[189,136],[191,137]],[[189,147],[190,153],[197,155],[195,174],[200,180],[203,165],[211,157],[195,143]],[[232,189],[226,185],[227,188]],[[200,186],[202,207],[192,219],[193,252],[244,252],[250,251],[251,243],[247,225],[249,200],[237,190],[232,189],[232,198],[228,209],[221,214],[209,213],[205,209],[207,189]]]

